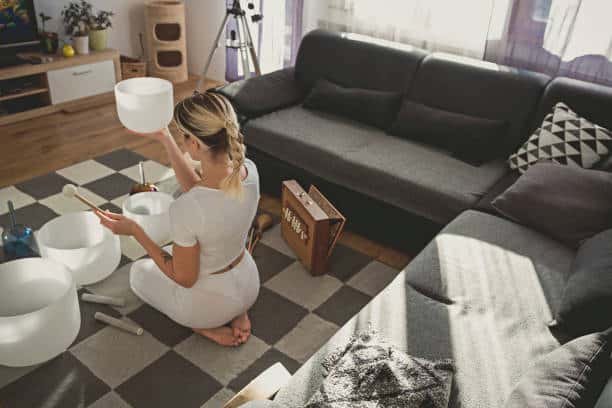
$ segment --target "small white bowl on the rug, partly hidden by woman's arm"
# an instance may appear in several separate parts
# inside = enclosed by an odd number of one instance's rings
[[[170,204],[174,198],[162,192],[131,195],[123,202],[123,215],[136,221],[158,245],[170,241]]]

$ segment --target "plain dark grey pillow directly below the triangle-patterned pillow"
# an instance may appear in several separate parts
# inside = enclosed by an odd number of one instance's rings
[[[492,205],[520,224],[577,246],[612,228],[612,174],[538,163]]]

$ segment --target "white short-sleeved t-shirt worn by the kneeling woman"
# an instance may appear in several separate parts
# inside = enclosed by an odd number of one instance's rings
[[[248,175],[242,181],[243,198],[196,186],[170,206],[170,233],[178,246],[200,243],[200,273],[208,275],[231,264],[244,250],[259,203],[259,174],[245,160]]]

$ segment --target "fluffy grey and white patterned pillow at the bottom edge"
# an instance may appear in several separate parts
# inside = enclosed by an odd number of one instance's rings
[[[452,361],[409,356],[375,332],[357,335],[321,365],[325,379],[304,408],[448,407]]]

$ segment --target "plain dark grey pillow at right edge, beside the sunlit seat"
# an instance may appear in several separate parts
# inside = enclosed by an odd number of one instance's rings
[[[575,335],[612,326],[612,229],[578,249],[565,285],[557,325]]]

